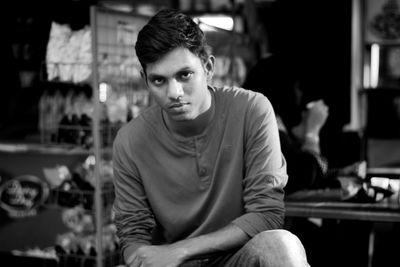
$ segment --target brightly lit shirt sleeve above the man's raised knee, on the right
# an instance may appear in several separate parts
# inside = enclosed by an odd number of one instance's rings
[[[233,221],[250,237],[283,227],[288,179],[272,105],[261,94],[253,100],[245,122],[245,214]]]

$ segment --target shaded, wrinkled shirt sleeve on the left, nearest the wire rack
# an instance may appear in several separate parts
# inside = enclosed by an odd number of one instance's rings
[[[151,243],[155,220],[132,161],[127,138],[128,135],[119,133],[113,146],[113,211],[122,251],[128,247],[134,251],[141,245]]]

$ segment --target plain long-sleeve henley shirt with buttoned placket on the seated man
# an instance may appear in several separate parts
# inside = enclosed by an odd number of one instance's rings
[[[250,237],[282,227],[286,162],[269,100],[235,87],[210,91],[215,113],[197,136],[169,132],[156,105],[118,132],[114,212],[122,249],[229,223]]]

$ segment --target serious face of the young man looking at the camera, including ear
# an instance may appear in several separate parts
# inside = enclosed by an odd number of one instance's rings
[[[175,121],[193,120],[211,103],[207,80],[214,58],[203,63],[186,48],[176,48],[158,61],[147,64],[146,79],[154,100]]]

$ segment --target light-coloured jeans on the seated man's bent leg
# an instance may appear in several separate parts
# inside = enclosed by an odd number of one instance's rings
[[[309,267],[301,241],[287,230],[259,233],[231,253],[185,262],[181,267]]]

